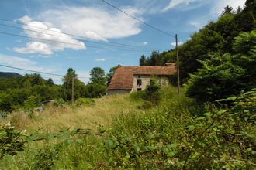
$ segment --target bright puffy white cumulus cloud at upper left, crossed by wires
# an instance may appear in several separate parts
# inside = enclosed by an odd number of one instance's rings
[[[13,48],[18,53],[50,55],[55,51],[64,49],[86,49],[84,42],[62,33],[61,29],[49,27],[51,25],[50,22],[36,22],[27,15],[20,18],[19,21],[24,24],[22,26],[24,32],[31,41],[25,47]]]

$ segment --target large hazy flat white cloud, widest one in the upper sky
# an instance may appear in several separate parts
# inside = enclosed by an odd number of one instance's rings
[[[122,8],[130,15],[140,18],[137,8]],[[64,32],[71,32],[91,39],[118,39],[137,35],[141,32],[140,22],[131,19],[122,12],[107,11],[95,7],[65,7],[43,12],[40,18],[60,27]]]

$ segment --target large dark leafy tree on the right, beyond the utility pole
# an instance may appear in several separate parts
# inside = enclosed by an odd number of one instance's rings
[[[236,54],[214,53],[211,59],[201,61],[202,68],[190,74],[186,85],[190,97],[212,102],[256,87],[256,31],[241,32],[235,39]]]

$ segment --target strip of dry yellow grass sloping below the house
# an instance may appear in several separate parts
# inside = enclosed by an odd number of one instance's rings
[[[64,128],[90,128],[95,130],[102,125],[108,127],[112,116],[120,113],[139,111],[138,102],[132,101],[127,95],[102,97],[95,100],[95,105],[81,107],[47,107],[32,119],[26,114],[16,112],[5,121],[11,121],[19,129],[28,132],[54,132]]]

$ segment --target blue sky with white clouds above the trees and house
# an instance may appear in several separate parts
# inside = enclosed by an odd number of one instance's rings
[[[0,64],[64,75],[73,68],[88,83],[90,70],[138,66],[140,56],[167,51],[186,42],[228,4],[245,0],[1,0]],[[0,66],[0,71],[16,72]],[[61,77],[41,74],[61,83]]]

